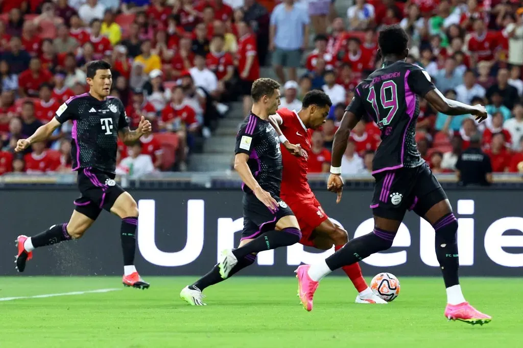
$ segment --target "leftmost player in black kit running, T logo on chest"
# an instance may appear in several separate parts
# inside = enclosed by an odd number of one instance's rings
[[[104,61],[87,64],[89,92],[76,95],[63,103],[55,116],[27,139],[18,140],[17,152],[32,143],[49,139],[53,131],[66,121],[72,121],[71,157],[73,171],[81,196],[74,201],[75,209],[67,223],[52,225],[32,237],[17,238],[16,268],[23,272],[35,248],[52,245],[83,236],[102,210],[122,219],[123,284],[147,289],[134,267],[138,206],[131,195],[115,182],[118,137],[127,145],[151,133],[151,124],[142,116],[136,130],[129,129],[125,107],[118,98],[109,97],[112,85],[111,65]]]

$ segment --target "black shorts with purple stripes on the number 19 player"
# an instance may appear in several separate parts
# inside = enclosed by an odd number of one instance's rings
[[[407,210],[424,217],[436,203],[447,199],[427,163],[373,176],[376,186],[370,207],[372,213],[380,218],[402,221]]]

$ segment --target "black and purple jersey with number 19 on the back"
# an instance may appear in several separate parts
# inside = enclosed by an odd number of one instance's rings
[[[403,61],[385,62],[356,87],[346,110],[358,117],[367,113],[381,130],[373,174],[424,163],[415,139],[419,114],[416,95],[423,98],[435,88],[424,69]]]

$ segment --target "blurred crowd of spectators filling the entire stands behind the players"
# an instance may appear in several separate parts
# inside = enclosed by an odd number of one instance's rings
[[[523,0],[355,0],[346,13],[331,0],[0,0],[0,10],[0,174],[70,170],[71,125],[24,155],[13,148],[86,91],[93,59],[112,64],[111,94],[127,105],[131,126],[143,115],[154,128],[119,145],[120,174],[186,170],[229,102],[240,98],[248,113],[252,82],[268,65],[282,107],[299,110],[311,89],[331,97],[309,157],[311,172],[326,172],[354,88],[379,67],[377,31],[392,23],[411,37],[408,61],[442,93],[491,114],[477,124],[420,101],[416,140],[433,171],[456,170],[480,135],[493,171],[523,173]],[[344,174],[370,172],[379,141],[370,119],[358,124]]]

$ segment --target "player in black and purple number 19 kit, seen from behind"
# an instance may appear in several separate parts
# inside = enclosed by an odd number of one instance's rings
[[[319,281],[333,270],[387,250],[407,210],[427,220],[436,232],[436,256],[447,289],[445,317],[468,323],[487,323],[491,317],[465,301],[458,279],[458,221],[449,200],[429,166],[420,156],[415,141],[417,96],[425,98],[435,109],[447,115],[472,114],[478,121],[487,117],[482,105],[469,106],[449,100],[436,89],[426,71],[405,62],[408,35],[400,26],[385,27],[379,34],[382,66],[356,87],[342,124],[334,137],[331,175],[327,189],[342,198],[340,176],[342,155],[351,129],[366,113],[381,129],[381,144],[372,163],[376,179],[371,208],[374,230],[352,239],[342,249],[316,265],[298,267],[300,298],[312,310],[314,292]]]

